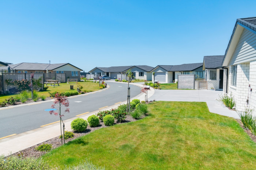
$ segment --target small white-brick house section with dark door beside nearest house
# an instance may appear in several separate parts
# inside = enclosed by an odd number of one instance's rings
[[[222,68],[224,55],[204,56],[203,70],[205,70],[205,79],[207,81],[207,90],[223,90]]]

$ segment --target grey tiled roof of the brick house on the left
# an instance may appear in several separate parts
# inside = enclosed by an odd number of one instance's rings
[[[43,63],[19,63],[9,65],[13,70],[54,70],[69,63],[43,64]],[[70,64],[73,66],[72,64]],[[75,67],[75,66],[74,66]],[[77,67],[76,67],[77,68]],[[78,68],[81,70],[80,68]]]

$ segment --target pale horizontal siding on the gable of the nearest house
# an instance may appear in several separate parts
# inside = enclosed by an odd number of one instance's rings
[[[256,59],[256,34],[244,29],[231,57],[229,66]]]

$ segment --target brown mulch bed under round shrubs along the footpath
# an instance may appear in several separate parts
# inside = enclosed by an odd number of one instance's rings
[[[123,120],[122,122],[117,122],[117,120],[115,120],[114,124],[128,123],[128,122],[135,122],[135,121],[136,121],[136,119],[133,119],[132,116],[127,115],[125,120]],[[105,126],[105,124],[103,122],[101,122],[101,121],[100,121],[99,126],[97,126],[97,127],[90,127],[89,124],[88,124],[87,129],[84,132],[76,133],[75,131],[72,131],[74,133],[74,138],[65,139],[65,143],[68,143],[69,141],[72,141],[72,140],[74,140],[76,138],[79,138],[79,137],[82,137],[84,135],[87,135],[87,134],[93,132],[94,130],[101,129],[101,128],[104,128],[104,127],[108,127],[108,126]],[[23,158],[26,158],[26,157],[38,158],[38,157],[42,156],[43,154],[45,154],[46,152],[37,151],[37,150],[35,150],[35,147],[45,143],[45,144],[51,144],[52,145],[52,149],[55,149],[56,147],[59,147],[59,146],[63,145],[63,144],[61,144],[61,140],[62,139],[59,139],[59,136],[58,136],[58,137],[52,138],[52,139],[50,139],[48,141],[39,143],[37,145],[34,145],[32,147],[29,147],[27,149],[19,151],[18,153],[14,153],[12,155],[15,155],[15,156],[22,155]]]

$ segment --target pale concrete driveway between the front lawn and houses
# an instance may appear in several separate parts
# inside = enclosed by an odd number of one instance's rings
[[[239,118],[236,111],[229,110],[217,99],[217,94],[222,91],[214,90],[155,90],[153,96],[148,100],[177,101],[177,102],[206,102],[209,111],[219,115]]]

